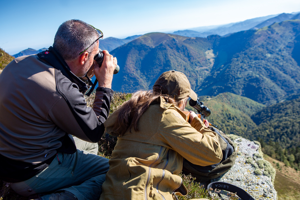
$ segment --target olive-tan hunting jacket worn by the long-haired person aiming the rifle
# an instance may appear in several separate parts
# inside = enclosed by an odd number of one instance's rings
[[[113,136],[119,135],[112,132],[117,117],[118,110],[104,123]],[[187,116],[178,107],[163,98],[152,103],[139,119],[139,131],[132,128],[132,133],[127,130],[118,137],[100,200],[168,200],[173,199],[173,192],[186,195],[178,176],[183,158],[202,166],[222,159],[217,134],[205,128],[197,117],[192,125],[186,120]]]

